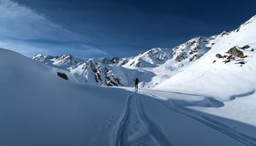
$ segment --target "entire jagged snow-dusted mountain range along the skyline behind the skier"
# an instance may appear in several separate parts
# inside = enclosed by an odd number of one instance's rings
[[[68,71],[80,84],[97,86],[133,87],[133,78],[142,78],[141,87],[155,87],[171,78],[219,44],[232,44],[228,37],[251,27],[255,16],[233,31],[223,31],[217,36],[197,36],[174,48],[155,47],[135,57],[86,59],[63,55],[61,57],[37,55],[34,60],[53,68]],[[242,44],[241,44],[242,45]],[[228,46],[227,46],[228,47]],[[230,48],[230,47],[229,47]],[[213,50],[214,51],[214,50]]]

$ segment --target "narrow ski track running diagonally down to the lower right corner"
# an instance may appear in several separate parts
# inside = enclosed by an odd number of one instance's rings
[[[177,113],[187,116],[188,118],[197,120],[198,122],[208,126],[208,128],[211,128],[213,130],[218,130],[219,132],[229,136],[230,138],[232,138],[236,141],[240,141],[241,143],[243,143],[247,146],[256,146],[256,138],[253,138],[249,135],[241,133],[239,130],[232,129],[228,125],[226,125],[218,120],[210,119],[207,116],[199,114],[193,110],[189,110],[187,108],[176,105],[174,102],[172,102],[172,104],[168,104],[167,102],[160,100],[159,96],[156,96],[153,93],[150,93],[145,90],[143,92],[145,95],[155,97],[156,98],[155,100],[162,103],[165,106],[165,108],[167,108],[169,110],[176,111]]]

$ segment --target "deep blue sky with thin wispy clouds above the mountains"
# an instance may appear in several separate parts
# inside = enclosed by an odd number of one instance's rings
[[[0,0],[0,47],[28,57],[131,57],[256,15],[253,0]]]

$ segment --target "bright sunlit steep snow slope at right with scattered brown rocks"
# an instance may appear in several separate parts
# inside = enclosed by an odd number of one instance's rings
[[[231,95],[255,90],[256,16],[240,28],[216,36],[208,53],[183,72],[167,79],[156,89],[176,89],[232,99]],[[230,56],[230,48],[242,51],[243,57]],[[219,55],[218,55],[219,54]],[[229,57],[230,56],[230,57]]]

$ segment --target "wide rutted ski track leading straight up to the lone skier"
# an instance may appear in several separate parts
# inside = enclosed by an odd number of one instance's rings
[[[134,92],[127,97],[125,111],[120,122],[117,123],[117,130],[114,131],[115,146],[144,146],[144,145],[165,145],[172,144],[165,138],[160,127],[150,120],[144,111],[142,99]]]

